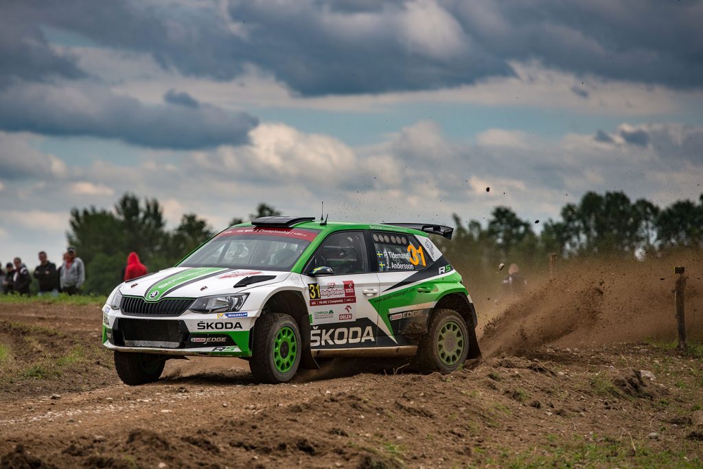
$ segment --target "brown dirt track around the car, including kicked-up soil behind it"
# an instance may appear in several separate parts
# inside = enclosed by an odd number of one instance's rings
[[[657,268],[639,284],[591,268],[530,293],[486,328],[494,356],[452,375],[338,361],[277,386],[238,359],[195,359],[128,387],[98,347],[97,308],[0,304],[0,467],[699,467],[703,361],[643,341],[673,330]],[[628,314],[659,295],[662,316]]]

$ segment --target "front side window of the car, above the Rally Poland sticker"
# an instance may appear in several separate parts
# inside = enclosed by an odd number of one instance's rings
[[[305,271],[322,266],[332,267],[335,275],[368,272],[363,232],[342,231],[328,236],[317,248]]]

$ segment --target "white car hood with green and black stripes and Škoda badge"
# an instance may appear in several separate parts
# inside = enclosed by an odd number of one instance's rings
[[[285,280],[290,272],[221,267],[173,267],[126,281],[122,295],[141,296],[147,301],[167,297],[196,298],[237,293]]]

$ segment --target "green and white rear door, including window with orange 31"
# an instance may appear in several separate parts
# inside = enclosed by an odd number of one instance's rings
[[[380,346],[417,345],[437,303],[437,286],[427,280],[438,275],[434,261],[439,250],[429,238],[408,233],[371,231],[370,242],[380,287],[373,300],[378,309],[376,340]]]

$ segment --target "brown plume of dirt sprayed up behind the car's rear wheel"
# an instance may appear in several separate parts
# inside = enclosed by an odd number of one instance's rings
[[[690,338],[703,338],[701,256],[645,262],[570,265],[507,309],[484,328],[484,356],[525,353],[553,344],[585,347],[676,337],[673,266],[685,265],[686,322]],[[480,311],[479,311],[480,312]]]

